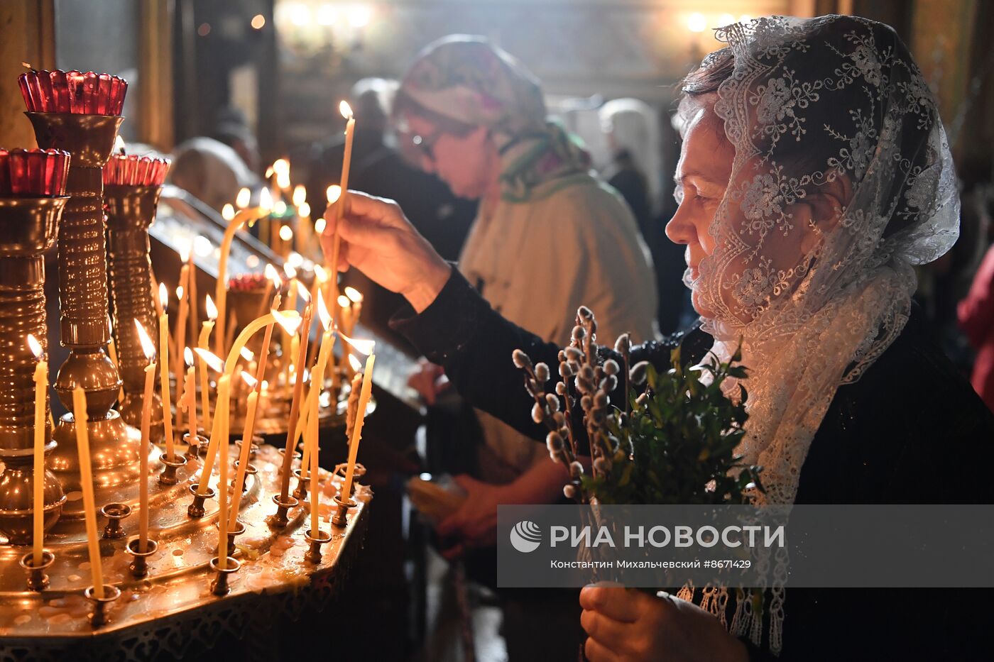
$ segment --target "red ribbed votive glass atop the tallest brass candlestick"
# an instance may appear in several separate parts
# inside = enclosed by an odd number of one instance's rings
[[[31,112],[119,115],[127,92],[124,79],[94,72],[31,71],[17,82]]]

